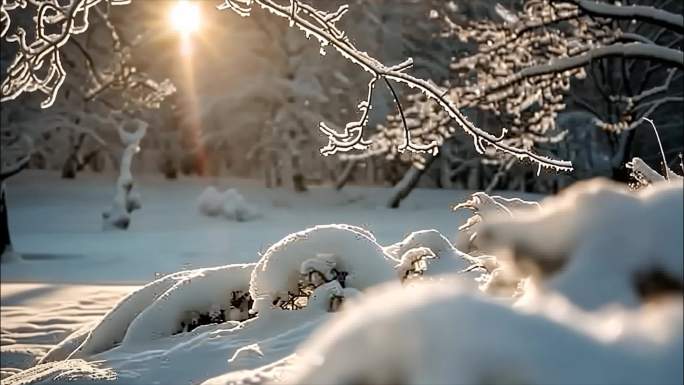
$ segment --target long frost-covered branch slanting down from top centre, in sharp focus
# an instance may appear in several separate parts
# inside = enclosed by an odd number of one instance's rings
[[[413,65],[412,60],[406,60],[395,66],[386,66],[366,52],[357,49],[347,38],[346,33],[336,25],[337,21],[347,12],[347,6],[342,6],[337,11],[328,13],[297,0],[291,0],[287,4],[271,0],[225,0],[219,6],[219,9],[231,9],[241,16],[249,16],[254,4],[276,16],[288,19],[291,26],[301,29],[307,37],[315,37],[321,45],[322,52],[325,52],[324,50],[327,46],[332,46],[344,58],[359,65],[372,76],[368,84],[367,99],[359,104],[359,109],[362,113],[359,121],[347,124],[343,133],[334,132],[325,124],[321,124],[321,130],[329,135],[328,146],[322,149],[324,155],[334,154],[338,151],[345,152],[352,149],[368,148],[368,143],[363,141],[363,125],[367,121],[368,110],[372,105],[372,90],[376,81],[382,78],[385,81],[392,80],[405,84],[410,88],[415,88],[428,99],[437,103],[456,122],[457,126],[473,138],[479,153],[484,153],[487,147],[491,147],[515,156],[518,159],[529,159],[542,167],[550,167],[557,170],[571,169],[572,166],[569,162],[554,160],[532,152],[529,149],[509,145],[504,141],[506,130],[504,130],[501,136],[497,136],[473,125],[448,96],[448,90],[442,89],[432,82],[408,75],[405,72]],[[405,149],[430,152],[432,154],[436,154],[438,151],[439,143],[428,143],[424,146],[417,145],[408,142],[410,140],[408,133],[405,133],[404,138],[407,140],[403,144]]]

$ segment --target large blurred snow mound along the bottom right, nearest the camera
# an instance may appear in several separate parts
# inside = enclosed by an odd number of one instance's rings
[[[610,317],[568,306],[560,322],[458,280],[387,285],[313,334],[281,382],[681,383],[681,312],[681,300]]]

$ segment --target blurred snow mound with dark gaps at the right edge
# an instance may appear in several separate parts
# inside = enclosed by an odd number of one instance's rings
[[[542,210],[483,223],[479,241],[585,308],[636,306],[684,286],[682,183],[631,192],[606,180],[576,183]]]

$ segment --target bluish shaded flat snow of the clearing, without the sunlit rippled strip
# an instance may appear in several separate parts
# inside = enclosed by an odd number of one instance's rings
[[[421,229],[455,234],[464,213],[451,204],[467,192],[418,189],[402,208],[384,208],[387,188],[312,187],[304,194],[266,189],[261,181],[136,177],[142,209],[127,231],[102,231],[101,213],[111,203],[113,176],[28,171],[11,179],[10,229],[23,263],[3,265],[2,281],[142,284],[160,274],[195,267],[256,262],[286,235],[327,223],[373,232],[381,244]],[[207,186],[237,188],[261,213],[247,222],[206,217],[197,200]]]

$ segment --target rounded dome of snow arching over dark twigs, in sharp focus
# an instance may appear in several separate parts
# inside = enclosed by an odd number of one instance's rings
[[[316,272],[327,282],[344,273],[344,287],[363,290],[396,280],[395,264],[367,231],[354,226],[316,226],[290,234],[266,251],[252,273],[254,311],[273,309],[296,293],[302,276]]]

